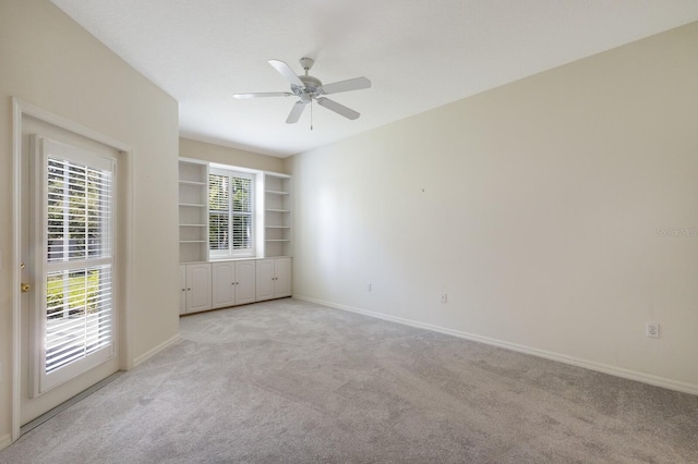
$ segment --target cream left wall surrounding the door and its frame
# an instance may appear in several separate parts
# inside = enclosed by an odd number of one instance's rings
[[[133,147],[127,365],[178,334],[177,101],[48,0],[0,2],[0,448],[11,428],[12,97]],[[157,233],[163,231],[164,233]]]

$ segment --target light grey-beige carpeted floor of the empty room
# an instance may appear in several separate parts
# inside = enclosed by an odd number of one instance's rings
[[[2,463],[698,463],[698,396],[291,298],[182,340]]]

